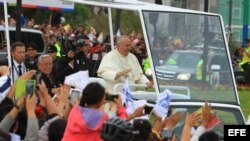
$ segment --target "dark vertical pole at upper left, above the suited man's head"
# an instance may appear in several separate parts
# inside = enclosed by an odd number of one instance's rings
[[[21,10],[22,10],[22,0],[16,0],[16,41],[21,41]]]

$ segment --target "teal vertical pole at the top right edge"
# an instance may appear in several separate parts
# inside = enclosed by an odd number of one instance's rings
[[[246,46],[245,39],[248,38],[248,12],[249,12],[249,0],[244,0],[244,12],[243,12],[243,34],[242,34],[242,44]]]

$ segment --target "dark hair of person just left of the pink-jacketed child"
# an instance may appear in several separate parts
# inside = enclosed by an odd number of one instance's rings
[[[49,141],[61,141],[66,125],[67,121],[64,119],[57,119],[52,122],[48,128]]]

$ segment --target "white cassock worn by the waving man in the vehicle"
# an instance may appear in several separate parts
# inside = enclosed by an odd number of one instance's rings
[[[132,69],[126,76],[119,77],[115,80],[118,72],[124,69]],[[128,77],[129,84],[146,84],[149,80],[143,74],[142,68],[132,53],[122,56],[117,49],[110,51],[104,56],[97,71],[99,77],[106,81],[106,89],[113,93],[113,88],[118,83],[124,83]]]

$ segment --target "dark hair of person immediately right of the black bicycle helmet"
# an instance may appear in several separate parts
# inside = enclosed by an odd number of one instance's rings
[[[152,126],[146,119],[135,119],[133,122],[133,141],[145,141],[149,139]]]

